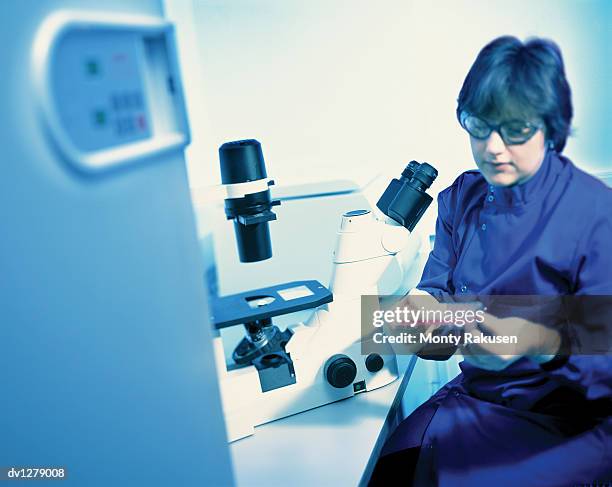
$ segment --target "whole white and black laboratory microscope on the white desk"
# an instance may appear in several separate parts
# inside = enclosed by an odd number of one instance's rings
[[[276,220],[261,145],[228,142],[219,149],[241,262],[272,257],[269,223]],[[361,353],[361,296],[402,285],[405,253],[416,255],[410,232],[431,204],[437,177],[412,161],[393,179],[376,209],[342,215],[329,289],[316,280],[294,281],[212,300],[215,360],[228,440],[254,427],[385,386],[398,377],[392,349]],[[412,256],[414,258],[414,255]],[[383,282],[384,281],[384,282]],[[280,330],[275,317],[312,309],[311,317]],[[243,326],[245,336],[227,364],[221,330]]]

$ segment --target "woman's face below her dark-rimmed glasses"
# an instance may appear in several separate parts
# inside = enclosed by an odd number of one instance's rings
[[[506,145],[497,131],[486,139],[470,136],[470,144],[476,165],[494,186],[524,183],[538,171],[546,153],[541,129],[523,144]]]

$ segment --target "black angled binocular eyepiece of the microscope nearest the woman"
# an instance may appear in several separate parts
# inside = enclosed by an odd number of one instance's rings
[[[388,217],[412,231],[432,202],[426,191],[438,171],[426,162],[410,161],[400,179],[393,179],[376,203]]]

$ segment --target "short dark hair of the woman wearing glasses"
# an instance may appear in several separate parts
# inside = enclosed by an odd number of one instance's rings
[[[563,57],[553,41],[516,37],[492,40],[476,57],[457,100],[466,111],[490,119],[533,119],[546,125],[557,152],[565,147],[573,115]]]

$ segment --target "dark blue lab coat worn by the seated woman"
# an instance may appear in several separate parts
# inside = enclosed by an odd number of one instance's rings
[[[463,173],[438,196],[418,288],[436,297],[612,295],[612,190],[553,150],[514,187]],[[410,485],[413,469],[419,486],[612,482],[609,354],[543,365],[524,357],[498,372],[460,367],[391,435],[372,484]]]

